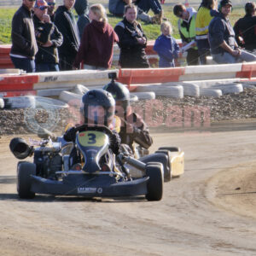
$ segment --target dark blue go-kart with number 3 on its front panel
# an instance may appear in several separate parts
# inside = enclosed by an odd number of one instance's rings
[[[86,129],[85,129],[86,128]],[[84,197],[124,197],[145,195],[148,201],[160,201],[163,194],[163,166],[158,162],[143,163],[128,154],[115,156],[109,150],[107,127],[77,131],[75,143],[57,137],[33,141],[28,145],[21,138],[10,142],[16,158],[33,155],[33,163],[20,161],[17,165],[17,191],[20,198],[35,194],[82,195]],[[81,162],[71,164],[72,148],[76,145]],[[134,166],[143,177],[132,177],[125,164]]]

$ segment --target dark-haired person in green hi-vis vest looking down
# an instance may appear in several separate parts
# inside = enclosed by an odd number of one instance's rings
[[[178,32],[183,42],[183,47],[185,45],[189,47],[189,49],[186,49],[188,52],[187,64],[198,65],[199,53],[195,43],[196,11],[192,7],[186,8],[183,4],[177,4],[173,8],[173,13],[179,18],[177,25]]]

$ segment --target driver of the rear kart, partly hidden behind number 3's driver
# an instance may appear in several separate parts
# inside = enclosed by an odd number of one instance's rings
[[[148,125],[137,114],[132,112],[130,106],[130,92],[124,84],[115,82],[114,79],[103,87],[113,95],[116,104],[115,114],[121,119],[119,136],[121,143],[129,145],[134,153],[133,143],[148,149],[152,143],[152,137],[149,135]]]

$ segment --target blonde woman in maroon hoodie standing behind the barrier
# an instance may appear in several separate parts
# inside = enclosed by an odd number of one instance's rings
[[[113,27],[108,24],[106,10],[102,4],[93,4],[89,12],[90,24],[85,26],[73,66],[84,69],[108,69],[113,60],[113,44],[119,41]]]

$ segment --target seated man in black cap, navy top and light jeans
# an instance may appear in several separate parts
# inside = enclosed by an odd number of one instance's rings
[[[209,25],[209,43],[213,61],[218,64],[256,61],[256,55],[240,49],[236,43],[235,32],[230,24],[232,9],[230,0],[221,0],[216,15]]]

